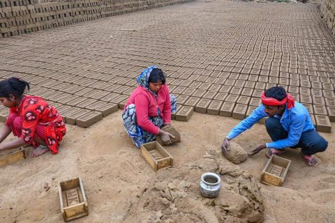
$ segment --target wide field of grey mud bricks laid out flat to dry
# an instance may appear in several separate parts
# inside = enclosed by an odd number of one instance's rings
[[[121,109],[151,65],[168,76],[179,107],[239,119],[280,85],[329,132],[334,52],[316,4],[194,1],[1,38],[0,77],[26,79],[31,95],[82,127]]]

